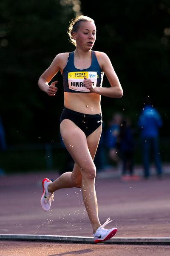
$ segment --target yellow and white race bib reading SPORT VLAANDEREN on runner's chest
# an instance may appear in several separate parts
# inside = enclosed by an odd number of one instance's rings
[[[93,88],[96,87],[97,84],[97,72],[91,72],[91,71],[80,71],[80,72],[69,72],[68,73],[68,86],[71,90],[76,90],[80,92],[90,92],[89,89],[87,89],[84,86],[84,77],[87,79],[91,79],[93,83]]]

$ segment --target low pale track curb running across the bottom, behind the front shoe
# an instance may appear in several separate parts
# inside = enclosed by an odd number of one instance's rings
[[[86,237],[86,236],[0,234],[0,240],[53,241],[53,242],[94,244],[93,237]],[[170,244],[170,237],[128,237],[128,238],[118,237],[118,238],[111,238],[105,241],[104,243],[107,243],[107,244]]]

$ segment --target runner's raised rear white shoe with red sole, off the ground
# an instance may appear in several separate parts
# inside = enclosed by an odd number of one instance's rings
[[[45,178],[42,180],[43,193],[41,196],[41,206],[44,211],[48,211],[51,207],[51,201],[54,201],[54,193],[48,192],[48,184],[52,183],[51,180]]]

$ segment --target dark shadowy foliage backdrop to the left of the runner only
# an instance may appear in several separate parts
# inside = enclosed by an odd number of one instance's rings
[[[44,133],[47,131],[46,115],[51,119],[47,108],[54,109],[54,100],[49,103],[42,96],[37,81],[55,55],[69,49],[66,30],[74,16],[72,4],[2,0],[0,15],[0,114],[7,143],[35,142],[41,137],[41,127]],[[39,116],[41,124],[37,125]]]

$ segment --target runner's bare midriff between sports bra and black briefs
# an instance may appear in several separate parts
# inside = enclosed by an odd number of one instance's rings
[[[101,96],[96,93],[68,93],[64,92],[65,108],[80,113],[95,115],[101,113]]]

